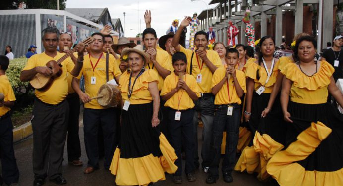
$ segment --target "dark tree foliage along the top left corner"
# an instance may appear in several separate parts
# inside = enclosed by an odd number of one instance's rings
[[[55,9],[57,10],[57,0],[2,0],[0,3],[1,10],[18,9],[20,2],[25,2],[26,9]],[[59,0],[59,9],[64,10],[67,0]]]

